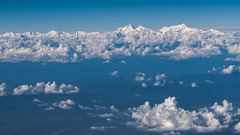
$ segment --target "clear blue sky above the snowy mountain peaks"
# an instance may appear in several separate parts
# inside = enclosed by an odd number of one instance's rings
[[[239,13],[240,0],[0,0],[0,34],[105,32],[128,24],[239,29]]]

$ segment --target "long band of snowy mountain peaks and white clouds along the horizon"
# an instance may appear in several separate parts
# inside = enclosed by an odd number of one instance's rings
[[[0,35],[0,61],[77,62],[81,59],[158,55],[173,59],[209,57],[227,50],[240,59],[240,32],[189,28],[185,24],[151,30],[133,25],[113,32],[50,31]]]

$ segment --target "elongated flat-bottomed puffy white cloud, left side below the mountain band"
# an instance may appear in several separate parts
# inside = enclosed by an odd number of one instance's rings
[[[20,85],[19,87],[13,90],[13,95],[36,95],[40,93],[45,94],[70,94],[70,93],[78,93],[79,89],[76,86],[71,84],[61,84],[57,86],[56,82],[40,82],[36,83],[35,86],[32,85]]]

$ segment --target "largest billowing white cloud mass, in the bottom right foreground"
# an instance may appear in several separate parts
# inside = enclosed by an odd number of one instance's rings
[[[224,100],[223,105],[215,103],[212,107],[201,108],[198,111],[187,111],[177,107],[175,97],[169,97],[161,104],[150,106],[145,102],[137,108],[130,108],[132,118],[136,121],[128,125],[146,131],[196,131],[199,133],[221,131],[232,125],[232,119],[237,115],[232,104]],[[238,129],[238,125],[235,126]]]

